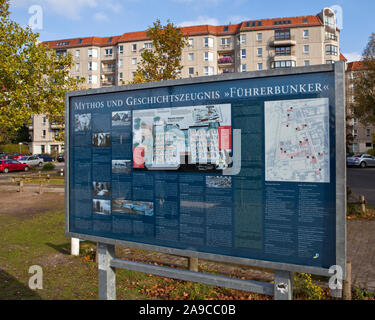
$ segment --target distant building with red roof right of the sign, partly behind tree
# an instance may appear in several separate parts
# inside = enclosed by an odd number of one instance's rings
[[[373,149],[372,134],[375,134],[375,126],[369,123],[360,122],[354,115],[353,103],[355,102],[354,80],[358,73],[366,72],[363,62],[355,61],[347,64],[346,70],[346,106],[347,106],[347,135],[349,140],[350,153],[367,153]]]

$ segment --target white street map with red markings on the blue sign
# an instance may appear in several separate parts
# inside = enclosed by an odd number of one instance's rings
[[[330,182],[329,100],[265,103],[266,181]]]

